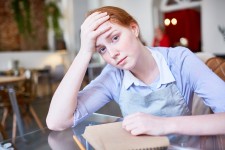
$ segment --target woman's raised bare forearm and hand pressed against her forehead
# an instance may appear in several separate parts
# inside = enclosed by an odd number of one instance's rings
[[[81,49],[72,65],[55,91],[48,116],[47,125],[53,130],[63,130],[73,124],[73,113],[77,107],[77,96],[86,73],[89,61],[96,52],[96,39],[109,30],[107,26],[96,30],[109,19],[107,13],[93,13],[81,25]]]

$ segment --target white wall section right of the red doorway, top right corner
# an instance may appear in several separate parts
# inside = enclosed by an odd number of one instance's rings
[[[225,54],[225,41],[218,25],[225,28],[225,0],[202,0],[202,49],[205,52]]]

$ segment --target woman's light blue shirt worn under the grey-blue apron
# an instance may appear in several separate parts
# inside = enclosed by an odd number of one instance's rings
[[[166,69],[168,68],[190,110],[193,94],[196,93],[214,112],[225,112],[225,82],[195,54],[184,47],[152,47],[150,49],[157,65],[161,66],[159,67],[160,79],[157,87],[160,87],[159,84],[170,82],[164,76],[169,73]],[[79,92],[78,105],[74,113],[74,126],[109,101],[115,100],[118,103],[124,80],[127,79],[125,79],[123,70],[107,65],[95,80]],[[130,78],[130,80],[132,79]],[[148,86],[135,86],[134,84],[132,87],[140,88],[138,90],[148,88]]]

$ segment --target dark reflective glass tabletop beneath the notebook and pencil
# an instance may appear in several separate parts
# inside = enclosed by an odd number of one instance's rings
[[[5,149],[16,150],[93,150],[88,142],[82,137],[85,127],[96,124],[120,121],[121,118],[104,114],[94,113],[74,128],[64,131],[51,131],[48,128],[33,131],[23,136],[18,136],[15,143],[12,139],[1,142]],[[76,138],[76,142],[73,138]],[[225,149],[225,135],[218,136],[183,136],[169,135],[170,146],[168,150],[222,150]],[[81,145],[81,146],[80,146]],[[7,148],[8,147],[8,148]],[[83,147],[83,148],[82,148]]]

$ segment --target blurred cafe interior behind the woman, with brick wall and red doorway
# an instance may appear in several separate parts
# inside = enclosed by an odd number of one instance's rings
[[[160,27],[169,39],[167,46],[189,48],[225,81],[225,0],[2,0],[0,149],[54,149],[48,140],[51,132],[44,132],[51,97],[79,51],[86,12],[107,5],[132,14],[147,46],[163,46],[153,45]],[[81,88],[105,65],[94,54]],[[200,103],[193,104],[195,114],[210,111]],[[114,102],[97,113],[121,117]],[[32,136],[33,132],[38,136]],[[21,140],[24,135],[32,141]]]

